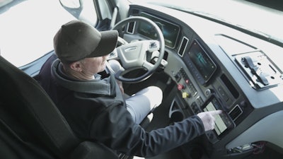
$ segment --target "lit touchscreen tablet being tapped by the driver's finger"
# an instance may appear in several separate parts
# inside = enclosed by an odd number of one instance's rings
[[[206,107],[204,107],[204,111],[212,111],[216,110],[215,107],[219,107],[219,102],[214,98],[211,102],[207,104]],[[214,130],[216,131],[216,134],[219,136],[221,133],[223,133],[228,127],[226,126],[224,119],[222,119],[221,115],[223,114],[217,114],[215,115],[215,126]]]

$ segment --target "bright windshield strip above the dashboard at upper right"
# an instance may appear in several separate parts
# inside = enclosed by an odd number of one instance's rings
[[[206,16],[256,33],[277,45],[283,44],[283,5],[281,1],[265,0],[131,0],[158,4]]]

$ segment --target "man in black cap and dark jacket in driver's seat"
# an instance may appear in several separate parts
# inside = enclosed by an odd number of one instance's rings
[[[116,30],[99,32],[81,20],[62,25],[54,36],[58,59],[48,59],[39,75],[41,86],[83,140],[105,144],[127,155],[149,157],[176,148],[214,129],[214,114],[202,112],[171,126],[145,131],[140,122],[161,104],[156,86],[127,99],[115,77],[103,77],[106,58],[115,49]]]

